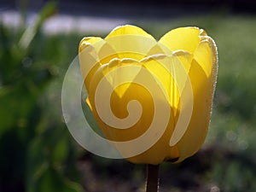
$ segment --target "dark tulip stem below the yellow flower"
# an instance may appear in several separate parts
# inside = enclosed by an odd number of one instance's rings
[[[159,166],[160,165],[147,165],[146,192],[158,192]]]

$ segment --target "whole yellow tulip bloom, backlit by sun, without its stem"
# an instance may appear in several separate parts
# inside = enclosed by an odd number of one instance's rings
[[[218,71],[205,31],[181,27],[156,41],[137,26],[119,26],[104,39],[83,38],[79,61],[86,102],[125,159],[180,162],[201,148]]]

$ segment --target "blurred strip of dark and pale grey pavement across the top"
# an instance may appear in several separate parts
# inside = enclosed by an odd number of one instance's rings
[[[8,26],[19,26],[19,10],[26,3],[26,25],[30,26],[46,2],[48,1],[0,0],[0,21]],[[256,13],[254,0],[60,0],[58,7],[58,13],[44,23],[44,32],[106,33],[115,26],[137,20],[168,20],[185,15],[216,13],[219,10],[235,14],[247,11]]]

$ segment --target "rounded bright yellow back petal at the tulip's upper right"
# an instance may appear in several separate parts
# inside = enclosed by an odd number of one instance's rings
[[[180,27],[167,32],[160,38],[160,44],[166,45],[172,51],[183,49],[189,53],[194,53],[200,43],[201,30],[197,27]]]

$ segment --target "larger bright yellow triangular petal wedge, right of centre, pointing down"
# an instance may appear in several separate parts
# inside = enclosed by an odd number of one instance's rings
[[[170,56],[148,56],[141,61],[143,67],[156,77],[162,89],[166,91],[166,97],[174,110],[174,116],[179,108],[180,94],[189,78],[191,58],[188,52],[179,51]]]

